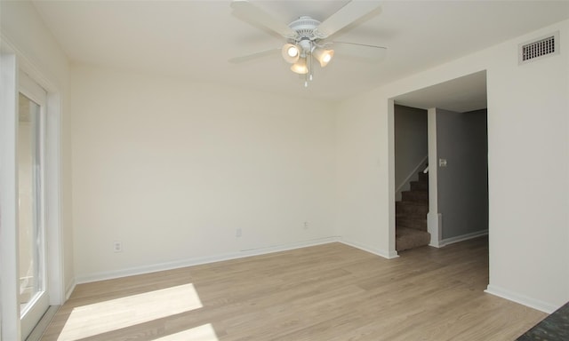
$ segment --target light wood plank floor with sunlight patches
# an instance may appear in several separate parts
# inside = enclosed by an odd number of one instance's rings
[[[515,340],[487,239],[387,260],[341,243],[78,285],[43,340]]]

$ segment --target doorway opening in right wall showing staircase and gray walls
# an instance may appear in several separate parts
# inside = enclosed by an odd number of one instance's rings
[[[427,226],[429,235],[418,237],[416,246],[442,247],[487,235],[485,71],[397,96],[393,115],[397,191],[393,197],[411,201],[396,202],[392,212],[396,250],[410,249],[398,233],[410,225],[422,230]],[[427,184],[421,193],[405,193],[413,192],[410,185],[421,179]]]

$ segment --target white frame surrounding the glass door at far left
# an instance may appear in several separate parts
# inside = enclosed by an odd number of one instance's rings
[[[50,305],[65,301],[61,234],[61,90],[52,79],[2,36],[0,50],[0,338],[20,340],[18,260],[17,129],[19,73],[47,93],[45,141],[45,242]],[[25,336],[24,336],[25,337]]]

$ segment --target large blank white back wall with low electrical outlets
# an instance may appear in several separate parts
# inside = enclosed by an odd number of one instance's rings
[[[333,236],[332,106],[100,67],[71,75],[78,282]]]

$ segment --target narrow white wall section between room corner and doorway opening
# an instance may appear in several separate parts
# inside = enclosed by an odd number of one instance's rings
[[[384,100],[381,100],[384,99]],[[383,257],[397,256],[390,235],[389,211],[395,216],[395,178],[390,155],[389,104],[381,91],[372,91],[339,106],[336,131],[336,229],[342,241]],[[391,113],[393,124],[393,113]],[[392,170],[389,170],[391,166]],[[391,182],[393,185],[393,181]],[[393,217],[393,225],[395,218]],[[390,242],[391,241],[391,242]]]

